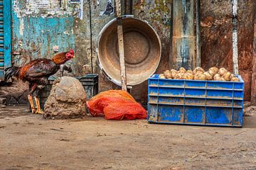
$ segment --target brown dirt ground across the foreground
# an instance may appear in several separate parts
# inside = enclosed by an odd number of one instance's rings
[[[256,169],[256,114],[215,128],[45,120],[26,108],[0,108],[0,169]]]

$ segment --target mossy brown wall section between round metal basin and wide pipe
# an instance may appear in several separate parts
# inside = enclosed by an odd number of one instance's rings
[[[158,33],[162,45],[162,54],[157,74],[169,69],[169,45],[171,30],[171,0],[134,0],[133,14],[135,18],[147,21]],[[147,101],[147,81],[134,86],[132,95],[142,103]]]

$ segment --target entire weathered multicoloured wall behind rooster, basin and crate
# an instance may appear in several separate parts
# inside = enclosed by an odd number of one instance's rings
[[[161,38],[162,55],[156,73],[169,68],[169,46],[171,30],[172,0],[134,0],[125,8],[134,17],[147,21]],[[49,6],[34,8],[32,0],[12,0],[13,4],[13,53],[14,64],[21,65],[38,57],[53,55],[53,45],[59,51],[74,48],[73,76],[100,74],[100,91],[118,89],[108,81],[97,67],[95,45],[97,36],[105,24],[114,18],[114,0],[91,0],[83,4],[82,20],[78,16],[78,4],[68,4],[63,10],[58,0],[43,0]],[[123,4],[131,1],[122,0]],[[250,98],[250,77],[252,68],[253,0],[239,1],[239,64],[240,74],[245,79],[245,99]],[[225,6],[225,8],[223,8]],[[123,6],[124,8],[124,6]],[[201,1],[202,66],[217,65],[232,71],[232,30],[230,1]],[[90,25],[91,22],[91,25]],[[92,33],[91,33],[92,32]],[[132,95],[142,103],[146,102],[147,82],[132,89]]]

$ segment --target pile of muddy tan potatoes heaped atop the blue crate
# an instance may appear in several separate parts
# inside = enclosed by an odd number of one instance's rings
[[[160,79],[191,79],[191,80],[214,80],[214,81],[239,81],[238,77],[228,72],[225,68],[218,69],[211,67],[206,72],[202,67],[186,70],[183,67],[178,69],[166,70],[164,74],[159,75]]]

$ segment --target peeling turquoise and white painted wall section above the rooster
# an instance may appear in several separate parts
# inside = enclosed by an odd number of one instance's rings
[[[43,6],[43,2],[49,6]],[[12,1],[15,64],[22,65],[38,57],[51,57],[54,45],[58,45],[60,51],[74,48],[73,15],[73,8],[62,10],[58,0],[41,1],[41,6],[35,1]]]

